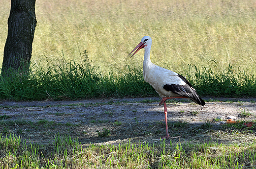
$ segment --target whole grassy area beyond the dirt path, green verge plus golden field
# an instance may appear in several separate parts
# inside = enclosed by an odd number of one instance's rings
[[[200,96],[255,97],[255,9],[252,0],[37,1],[31,73],[0,79],[0,99],[157,96],[143,80],[144,52],[128,58],[144,35],[152,62],[186,76]]]

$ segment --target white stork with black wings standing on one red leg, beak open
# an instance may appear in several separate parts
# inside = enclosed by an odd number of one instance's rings
[[[169,98],[189,98],[195,103],[202,106],[205,105],[204,100],[197,95],[195,89],[192,87],[190,82],[182,75],[172,72],[170,70],[161,68],[153,64],[150,61],[150,49],[151,49],[152,39],[149,36],[144,36],[141,39],[139,45],[134,48],[129,55],[136,50],[130,57],[132,57],[139,49],[145,48],[144,61],[143,61],[143,76],[146,82],[148,82],[162,98],[159,105],[163,103],[164,105],[164,115],[165,115],[165,126],[166,126],[166,136],[163,138],[168,139],[168,125],[167,125],[167,108],[165,101]]]

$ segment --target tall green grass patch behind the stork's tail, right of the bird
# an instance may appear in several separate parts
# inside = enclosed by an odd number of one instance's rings
[[[232,65],[222,68],[215,61],[207,67],[189,65],[184,75],[202,96],[255,97],[256,77],[248,70]]]

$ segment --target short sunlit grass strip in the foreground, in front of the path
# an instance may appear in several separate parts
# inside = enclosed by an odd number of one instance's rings
[[[47,145],[27,144],[0,135],[0,166],[4,169],[226,169],[253,168],[256,142],[251,144],[160,143],[82,146],[69,136],[56,135]]]

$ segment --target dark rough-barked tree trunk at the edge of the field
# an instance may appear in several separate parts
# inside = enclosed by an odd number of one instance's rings
[[[1,75],[28,72],[35,26],[35,0],[11,0]]]

